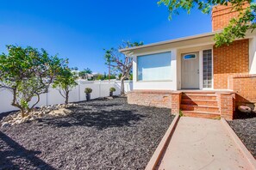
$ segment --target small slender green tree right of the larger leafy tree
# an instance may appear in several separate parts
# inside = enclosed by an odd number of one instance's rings
[[[65,99],[66,106],[68,104],[70,91],[72,88],[78,85],[76,82],[77,78],[78,77],[75,76],[72,71],[65,66],[61,68],[59,74],[56,76],[53,82],[53,88],[57,88],[59,90],[59,94],[61,94],[61,96]]]

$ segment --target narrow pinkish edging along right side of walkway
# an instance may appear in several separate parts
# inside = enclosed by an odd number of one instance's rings
[[[222,124],[224,125],[225,129],[228,131],[230,137],[234,140],[234,143],[239,147],[240,152],[245,156],[247,161],[250,163],[252,169],[256,169],[256,161],[253,155],[249,152],[247,147],[240,141],[240,138],[234,133],[233,129],[229,126],[228,122],[225,118],[221,119]]]

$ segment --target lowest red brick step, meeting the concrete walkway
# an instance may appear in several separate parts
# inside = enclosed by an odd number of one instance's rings
[[[219,112],[200,112],[200,111],[181,111],[184,116],[194,117],[194,118],[221,118]]]

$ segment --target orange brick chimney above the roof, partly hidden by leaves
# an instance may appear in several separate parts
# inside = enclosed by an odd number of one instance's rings
[[[249,3],[243,5],[243,9],[250,6]],[[224,27],[228,26],[229,21],[239,15],[238,11],[232,10],[231,5],[216,5],[212,9],[211,22],[212,31],[222,30]]]

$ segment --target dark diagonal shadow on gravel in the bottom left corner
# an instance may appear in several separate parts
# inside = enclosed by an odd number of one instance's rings
[[[36,155],[40,151],[27,150],[0,131],[0,169],[55,169]],[[22,162],[17,164],[16,160]]]

